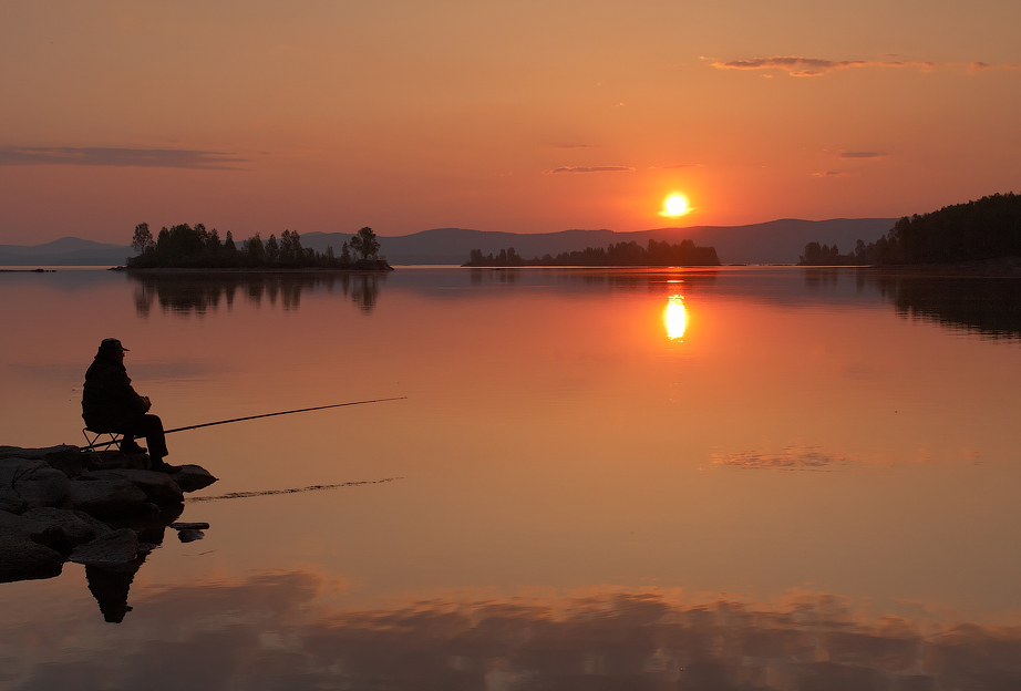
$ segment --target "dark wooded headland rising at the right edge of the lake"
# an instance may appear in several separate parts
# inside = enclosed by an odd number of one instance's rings
[[[945,264],[1021,257],[1021,195],[994,194],[938,212],[905,216],[875,243],[837,246],[808,243],[804,266]]]

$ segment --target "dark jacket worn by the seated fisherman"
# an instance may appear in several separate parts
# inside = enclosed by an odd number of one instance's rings
[[[144,415],[148,404],[131,386],[124,363],[99,353],[85,372],[82,417],[95,432],[115,432]]]

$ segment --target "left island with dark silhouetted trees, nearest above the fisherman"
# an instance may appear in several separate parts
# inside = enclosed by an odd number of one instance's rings
[[[216,228],[207,230],[204,224],[164,226],[153,238],[147,223],[135,226],[131,247],[137,254],[127,260],[130,269],[187,268],[187,269],[389,269],[385,259],[379,258],[380,243],[368,226],[359,230],[350,243],[344,243],[340,254],[327,247],[319,252],[301,246],[297,230],[285,230],[280,238],[270,235],[262,240],[256,233],[247,240],[235,243],[230,230],[220,241]]]

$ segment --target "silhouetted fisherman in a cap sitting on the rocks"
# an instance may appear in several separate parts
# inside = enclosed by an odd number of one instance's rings
[[[163,421],[157,415],[147,414],[153,406],[148,396],[138,395],[132,389],[124,368],[125,352],[127,349],[117,339],[103,339],[100,343],[95,360],[85,372],[82,390],[82,417],[85,426],[93,432],[123,434],[121,451],[125,453],[145,453],[135,442],[136,436],[144,436],[152,468],[175,473],[181,466],[163,461],[168,453]]]

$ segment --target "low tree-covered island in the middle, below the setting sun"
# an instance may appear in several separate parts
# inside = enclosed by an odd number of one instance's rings
[[[608,247],[586,247],[582,250],[560,252],[556,257],[546,254],[543,257],[525,259],[513,247],[502,249],[496,255],[483,255],[481,249],[468,254],[466,267],[515,267],[515,266],[720,266],[714,247],[698,247],[692,240],[682,240],[680,245],[649,240],[642,247],[638,243],[610,244]]]

